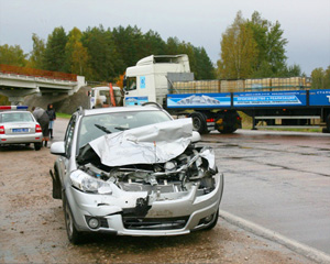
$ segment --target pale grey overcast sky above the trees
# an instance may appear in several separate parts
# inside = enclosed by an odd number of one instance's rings
[[[136,25],[153,30],[164,41],[176,36],[204,46],[213,63],[219,59],[221,35],[241,10],[254,11],[275,23],[288,40],[287,64],[310,75],[330,65],[330,0],[0,0],[0,45],[32,51],[32,33],[47,40],[57,26]]]

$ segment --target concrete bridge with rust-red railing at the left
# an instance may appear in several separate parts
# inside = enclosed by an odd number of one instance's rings
[[[0,95],[7,96],[11,105],[20,105],[32,94],[70,96],[82,86],[84,76],[0,64]]]

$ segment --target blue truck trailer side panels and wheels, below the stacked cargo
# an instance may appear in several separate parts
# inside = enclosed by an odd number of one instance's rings
[[[241,127],[238,111],[252,117],[253,129],[324,127],[330,132],[330,89],[172,94],[166,108],[189,112],[200,133],[234,132]]]

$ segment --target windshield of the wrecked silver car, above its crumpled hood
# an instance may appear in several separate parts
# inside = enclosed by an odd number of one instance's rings
[[[78,135],[78,147],[80,148],[88,142],[107,133],[124,131],[169,120],[169,116],[158,110],[87,116],[81,119]]]

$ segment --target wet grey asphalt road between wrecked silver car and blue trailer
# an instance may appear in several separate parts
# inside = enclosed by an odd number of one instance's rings
[[[202,136],[226,176],[220,208],[330,254],[330,134]]]

